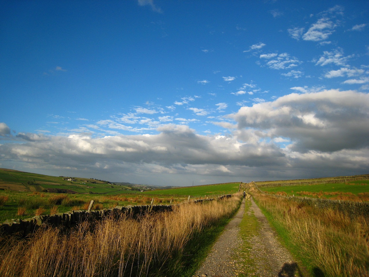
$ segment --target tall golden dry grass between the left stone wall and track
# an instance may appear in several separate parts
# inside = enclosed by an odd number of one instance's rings
[[[0,276],[173,276],[193,233],[230,216],[240,198],[84,222],[67,234],[45,228],[28,241],[3,238]]]

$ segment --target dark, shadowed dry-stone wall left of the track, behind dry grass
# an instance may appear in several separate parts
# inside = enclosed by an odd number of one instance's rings
[[[217,199],[229,198],[231,195],[223,195]],[[206,201],[213,201],[210,199],[199,199],[193,201],[193,203],[203,203]],[[177,204],[180,205],[180,204]],[[101,220],[107,216],[114,216],[119,218],[122,215],[130,215],[137,217],[145,213],[153,212],[165,212],[173,211],[174,205],[136,205],[136,206],[117,206],[115,208],[95,210],[95,211],[69,211],[65,213],[56,213],[55,215],[39,215],[27,219],[8,219],[4,223],[0,224],[1,235],[16,235],[27,236],[30,233],[35,232],[42,225],[61,226],[68,229],[77,224],[89,220]]]

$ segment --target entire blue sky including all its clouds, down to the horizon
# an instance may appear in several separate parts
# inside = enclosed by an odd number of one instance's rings
[[[0,167],[162,185],[369,172],[368,1],[7,1]]]

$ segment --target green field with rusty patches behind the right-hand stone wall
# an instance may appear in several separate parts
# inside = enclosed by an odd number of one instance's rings
[[[349,183],[328,183],[313,185],[284,185],[259,188],[268,193],[287,196],[308,196],[334,200],[358,202],[369,201],[369,180],[351,181]],[[360,200],[359,200],[360,199]]]

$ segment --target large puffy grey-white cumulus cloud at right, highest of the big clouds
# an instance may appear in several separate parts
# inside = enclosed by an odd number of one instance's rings
[[[239,129],[262,129],[270,138],[290,138],[289,148],[301,153],[369,145],[369,95],[351,90],[292,93],[241,107],[232,118]]]

